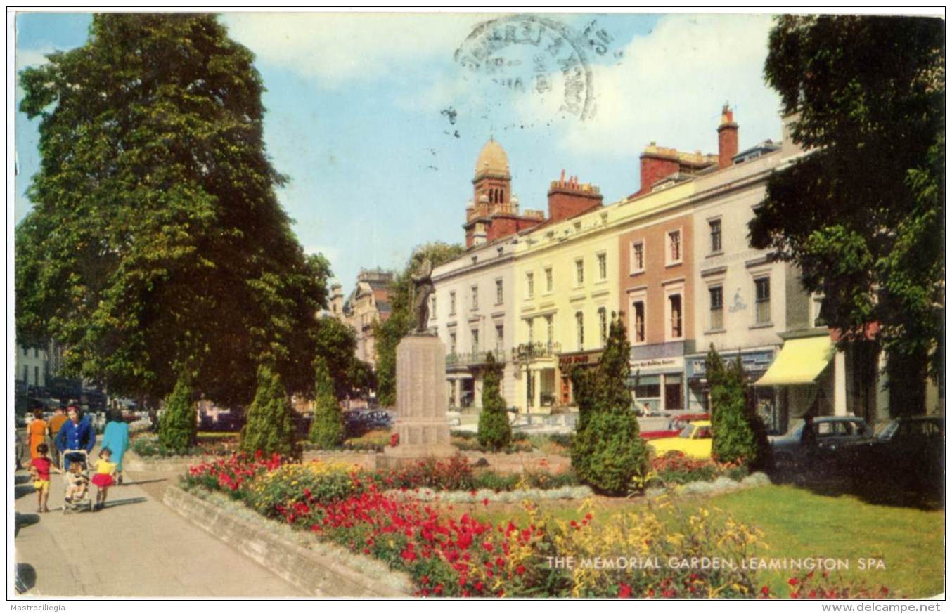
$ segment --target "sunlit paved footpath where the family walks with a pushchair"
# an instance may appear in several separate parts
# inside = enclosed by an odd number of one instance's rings
[[[66,515],[60,475],[51,476],[43,514],[29,474],[16,476],[16,563],[30,586],[23,598],[302,595],[163,505],[175,475],[127,471],[125,485],[109,488],[104,509]]]

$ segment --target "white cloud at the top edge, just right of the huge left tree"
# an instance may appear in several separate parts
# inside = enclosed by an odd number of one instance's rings
[[[227,13],[229,35],[262,61],[339,87],[452,57],[490,15],[466,13]]]

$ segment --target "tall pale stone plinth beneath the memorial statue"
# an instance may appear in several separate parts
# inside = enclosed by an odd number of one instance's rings
[[[397,346],[397,433],[380,464],[401,465],[456,453],[446,421],[446,348],[433,335],[409,335]]]

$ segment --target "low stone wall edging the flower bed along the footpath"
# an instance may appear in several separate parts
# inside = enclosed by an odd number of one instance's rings
[[[390,571],[385,564],[360,559],[335,545],[321,544],[314,536],[258,516],[244,505],[217,502],[211,497],[203,500],[178,486],[166,490],[164,503],[192,524],[231,545],[255,563],[267,567],[307,595],[410,595],[409,579]],[[243,517],[248,515],[253,515],[253,520]],[[353,561],[367,566],[367,570],[358,570],[353,564],[348,564]]]

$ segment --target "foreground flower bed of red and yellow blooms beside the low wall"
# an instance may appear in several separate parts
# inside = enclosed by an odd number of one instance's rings
[[[765,548],[757,529],[720,512],[672,512],[663,498],[610,521],[600,521],[590,503],[575,519],[562,520],[525,502],[527,520],[517,525],[458,515],[443,499],[441,505],[426,501],[446,496],[440,489],[447,486],[459,491],[472,479],[462,458],[382,474],[344,464],[282,464],[259,455],[209,460],[191,467],[184,483],[224,492],[265,517],[405,572],[418,596],[774,596],[743,565],[686,563],[741,561]],[[466,494],[471,503],[481,492]],[[580,564],[556,565],[553,557]],[[802,580],[791,578],[794,582]],[[832,585],[823,591],[824,596],[857,594]]]

